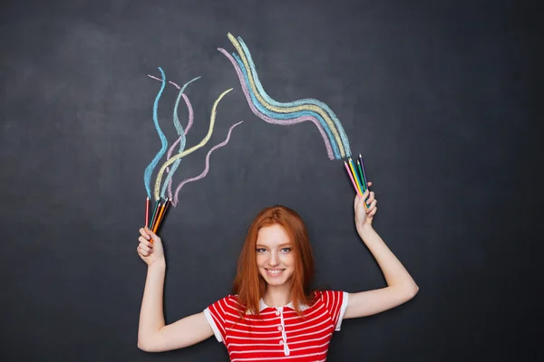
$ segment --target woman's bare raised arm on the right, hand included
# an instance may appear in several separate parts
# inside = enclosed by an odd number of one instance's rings
[[[369,186],[371,183],[369,183]],[[364,209],[364,199],[368,197],[368,209]],[[355,196],[355,226],[357,233],[368,250],[372,252],[380,269],[384,273],[387,287],[374,291],[350,293],[348,296],[345,319],[359,318],[390,310],[411,300],[419,287],[403,264],[389,250],[384,240],[375,232],[372,221],[376,214],[374,192],[366,190],[363,197]]]

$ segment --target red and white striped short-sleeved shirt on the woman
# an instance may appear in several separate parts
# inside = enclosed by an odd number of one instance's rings
[[[329,342],[340,330],[345,291],[318,291],[312,306],[299,317],[289,303],[270,307],[260,300],[260,319],[248,313],[240,319],[238,297],[229,295],[204,310],[209,325],[228,350],[231,361],[325,361]]]

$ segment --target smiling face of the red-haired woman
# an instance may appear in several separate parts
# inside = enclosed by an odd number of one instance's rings
[[[261,227],[257,235],[256,256],[259,274],[270,286],[284,286],[295,271],[293,243],[280,224]]]

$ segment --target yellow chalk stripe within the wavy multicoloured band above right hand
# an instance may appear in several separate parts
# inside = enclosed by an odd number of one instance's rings
[[[251,85],[251,89],[253,90],[253,93],[257,97],[257,100],[263,106],[265,106],[265,108],[267,108],[268,110],[274,110],[274,111],[276,111],[278,113],[290,113],[290,112],[296,112],[296,111],[299,111],[299,110],[313,110],[316,113],[319,113],[321,115],[321,117],[323,117],[323,119],[325,119],[325,122],[329,126],[329,129],[331,129],[331,131],[333,132],[333,135],[336,138],[336,143],[338,144],[338,148],[340,149],[341,156],[345,157],[345,150],[344,150],[344,145],[342,144],[342,138],[340,138],[340,135],[338,134],[338,131],[335,128],[335,123],[329,117],[329,115],[324,110],[320,109],[319,107],[317,107],[314,104],[307,104],[307,105],[304,105],[304,106],[296,106],[296,107],[281,107],[280,108],[280,107],[275,107],[275,106],[271,105],[270,103],[267,103],[267,101],[264,100],[261,97],[261,95],[259,94],[259,92],[257,90],[257,87],[255,86],[255,82],[253,81],[253,75],[251,73],[251,68],[249,67],[248,59],[246,58],[246,55],[245,55],[242,47],[238,43],[238,40],[231,33],[228,33],[228,39],[230,40],[230,43],[232,43],[232,45],[234,45],[234,47],[238,51],[238,54],[240,55],[240,58],[241,58],[242,62],[244,63],[244,66],[246,67],[246,71],[248,72],[249,84]]]

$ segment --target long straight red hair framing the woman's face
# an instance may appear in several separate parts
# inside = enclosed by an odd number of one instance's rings
[[[310,282],[314,277],[314,254],[310,246],[306,225],[296,212],[286,206],[276,205],[261,211],[248,229],[246,243],[238,259],[238,271],[232,287],[242,305],[242,318],[246,312],[259,314],[259,300],[265,294],[267,282],[257,269],[256,244],[261,227],[279,224],[283,226],[293,244],[295,271],[291,277],[291,301],[300,315],[302,305],[311,305],[313,298]]]

